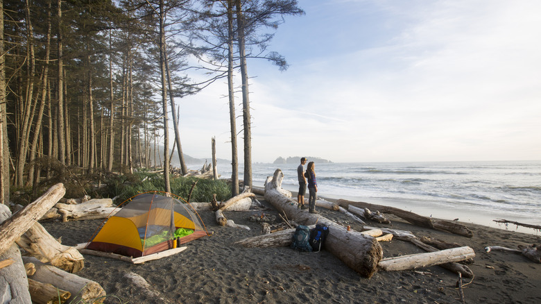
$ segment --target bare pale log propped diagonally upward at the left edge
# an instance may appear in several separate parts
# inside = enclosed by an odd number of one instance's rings
[[[26,233],[65,193],[64,185],[56,184],[33,203],[3,221],[0,224],[0,254],[8,250],[15,240]]]

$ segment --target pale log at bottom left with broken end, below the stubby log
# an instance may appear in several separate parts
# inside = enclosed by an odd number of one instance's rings
[[[80,300],[85,303],[102,303],[105,300],[105,290],[97,282],[81,278],[73,273],[58,269],[52,265],[47,265],[35,257],[23,257],[25,263],[35,265],[35,273],[29,276],[32,280],[52,284],[58,289],[66,290],[71,293],[70,301],[77,303]]]

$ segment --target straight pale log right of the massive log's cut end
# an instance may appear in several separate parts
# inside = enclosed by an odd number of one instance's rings
[[[475,257],[474,250],[465,246],[431,253],[418,253],[413,255],[402,255],[400,257],[388,257],[379,261],[377,266],[379,269],[385,271],[398,271],[458,262],[473,257]]]

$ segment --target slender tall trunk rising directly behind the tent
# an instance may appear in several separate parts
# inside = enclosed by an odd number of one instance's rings
[[[160,72],[162,74],[162,106],[164,110],[164,189],[171,192],[169,181],[169,119],[167,114],[167,87],[165,69],[165,12],[164,0],[160,0]],[[174,118],[173,118],[174,119]]]

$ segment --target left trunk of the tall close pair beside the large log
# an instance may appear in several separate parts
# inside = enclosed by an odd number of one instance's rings
[[[231,194],[239,195],[239,153],[237,152],[237,115],[233,85],[233,1],[227,0],[227,89],[229,93],[229,119],[231,127]]]

